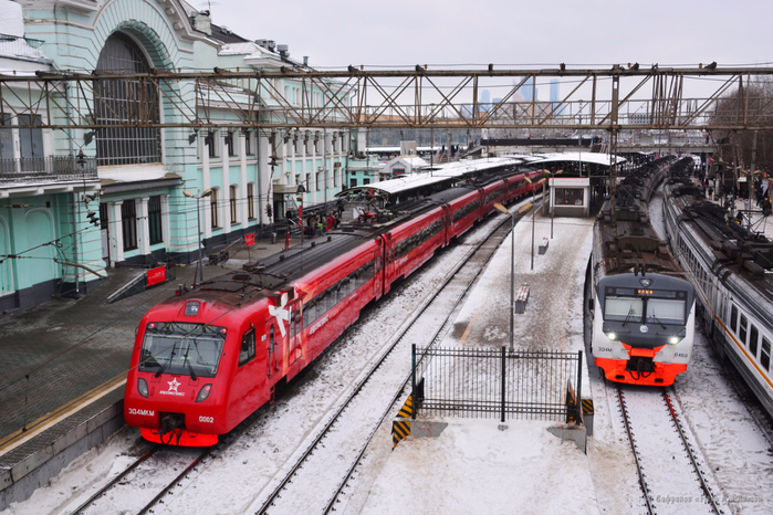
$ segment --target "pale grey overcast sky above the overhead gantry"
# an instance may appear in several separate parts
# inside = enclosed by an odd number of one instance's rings
[[[770,0],[212,0],[211,10],[215,23],[317,67],[773,61]]]

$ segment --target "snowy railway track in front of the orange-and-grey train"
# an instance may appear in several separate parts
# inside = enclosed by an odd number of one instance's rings
[[[617,387],[647,513],[729,513],[707,482],[702,460],[679,420],[667,390]]]

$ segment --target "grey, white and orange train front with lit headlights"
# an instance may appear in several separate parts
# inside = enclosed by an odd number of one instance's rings
[[[694,337],[694,288],[661,274],[612,275],[595,292],[593,355],[615,382],[669,386],[687,370]]]

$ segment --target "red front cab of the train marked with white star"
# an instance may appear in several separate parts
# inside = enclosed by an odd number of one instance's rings
[[[233,396],[246,393],[237,391],[236,374],[243,332],[207,304],[212,303],[195,298],[163,303],[137,330],[124,417],[148,441],[209,446],[241,420],[242,413],[230,404]],[[254,348],[253,339],[252,356]]]

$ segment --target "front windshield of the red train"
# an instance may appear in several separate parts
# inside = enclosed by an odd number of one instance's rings
[[[215,377],[226,328],[203,324],[150,323],[145,330],[139,370]]]

